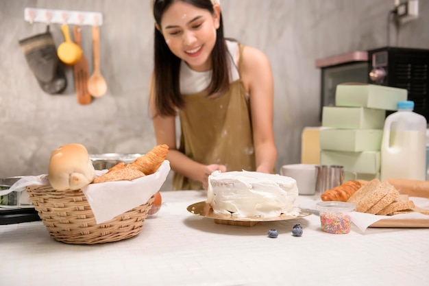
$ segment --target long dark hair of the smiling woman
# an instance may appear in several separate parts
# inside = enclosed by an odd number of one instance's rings
[[[161,27],[162,14],[169,6],[177,0],[155,0],[154,1],[154,19]],[[210,0],[180,0],[197,8],[206,9],[214,13],[213,4]],[[229,69],[228,69],[228,50],[223,36],[222,16],[217,29],[215,47],[212,50],[212,80],[207,88],[207,96],[220,95],[228,91],[229,87]],[[161,32],[155,27],[154,34],[154,87],[155,87],[155,106],[156,115],[173,116],[177,113],[177,108],[185,107],[184,99],[180,94],[180,62],[165,43]]]

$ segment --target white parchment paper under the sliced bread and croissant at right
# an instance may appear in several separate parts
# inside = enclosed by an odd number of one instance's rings
[[[410,197],[416,206],[420,208],[429,209],[429,199]],[[302,200],[299,201],[299,208],[316,209],[316,203],[320,200]],[[371,215],[370,213],[358,213],[354,211],[352,214],[352,222],[362,231],[365,231],[371,224],[378,222],[380,219],[429,219],[428,215],[421,213],[406,213],[404,215]]]

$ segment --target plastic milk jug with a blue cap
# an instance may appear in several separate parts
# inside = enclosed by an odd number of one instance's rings
[[[381,180],[426,180],[426,118],[413,112],[414,102],[398,102],[384,122]]]

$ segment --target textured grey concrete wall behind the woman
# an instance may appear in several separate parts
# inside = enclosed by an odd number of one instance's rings
[[[429,1],[420,17],[396,31],[391,45],[429,48]],[[319,126],[320,71],[315,60],[387,45],[393,0],[223,0],[226,36],[257,47],[271,60],[275,82],[277,167],[298,163],[305,126]],[[38,86],[18,40],[45,31],[23,20],[26,7],[103,13],[101,73],[108,93],[80,106],[73,71],[61,95]],[[79,142],[90,153],[140,152],[156,144],[148,112],[153,21],[149,0],[0,0],[0,178],[46,174],[52,150]],[[59,45],[60,25],[51,25]],[[90,27],[83,49],[92,71]],[[164,185],[169,189],[169,182]]]

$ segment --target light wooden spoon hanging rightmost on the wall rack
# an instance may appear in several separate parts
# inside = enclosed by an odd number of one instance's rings
[[[93,26],[93,60],[94,71],[88,79],[88,91],[93,97],[102,97],[106,94],[107,84],[100,72],[100,32],[99,26]]]

